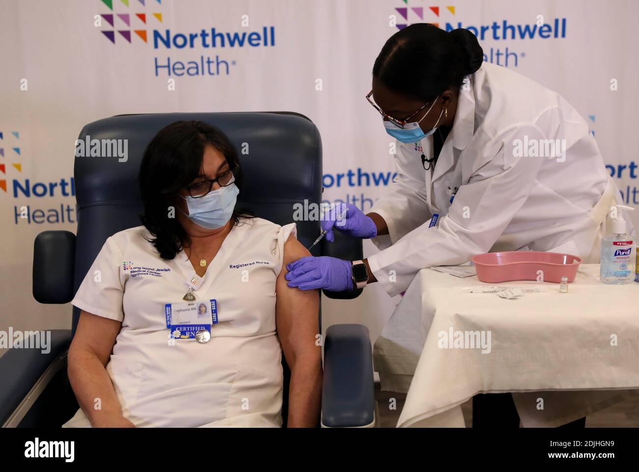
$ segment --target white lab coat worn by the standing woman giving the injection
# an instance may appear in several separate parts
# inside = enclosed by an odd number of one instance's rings
[[[373,238],[381,251],[368,263],[390,296],[423,268],[484,252],[566,252],[598,263],[606,215],[622,203],[589,126],[562,96],[485,62],[468,79],[435,170],[421,158],[434,156],[432,135],[397,142],[397,177],[370,210],[389,227]]]

